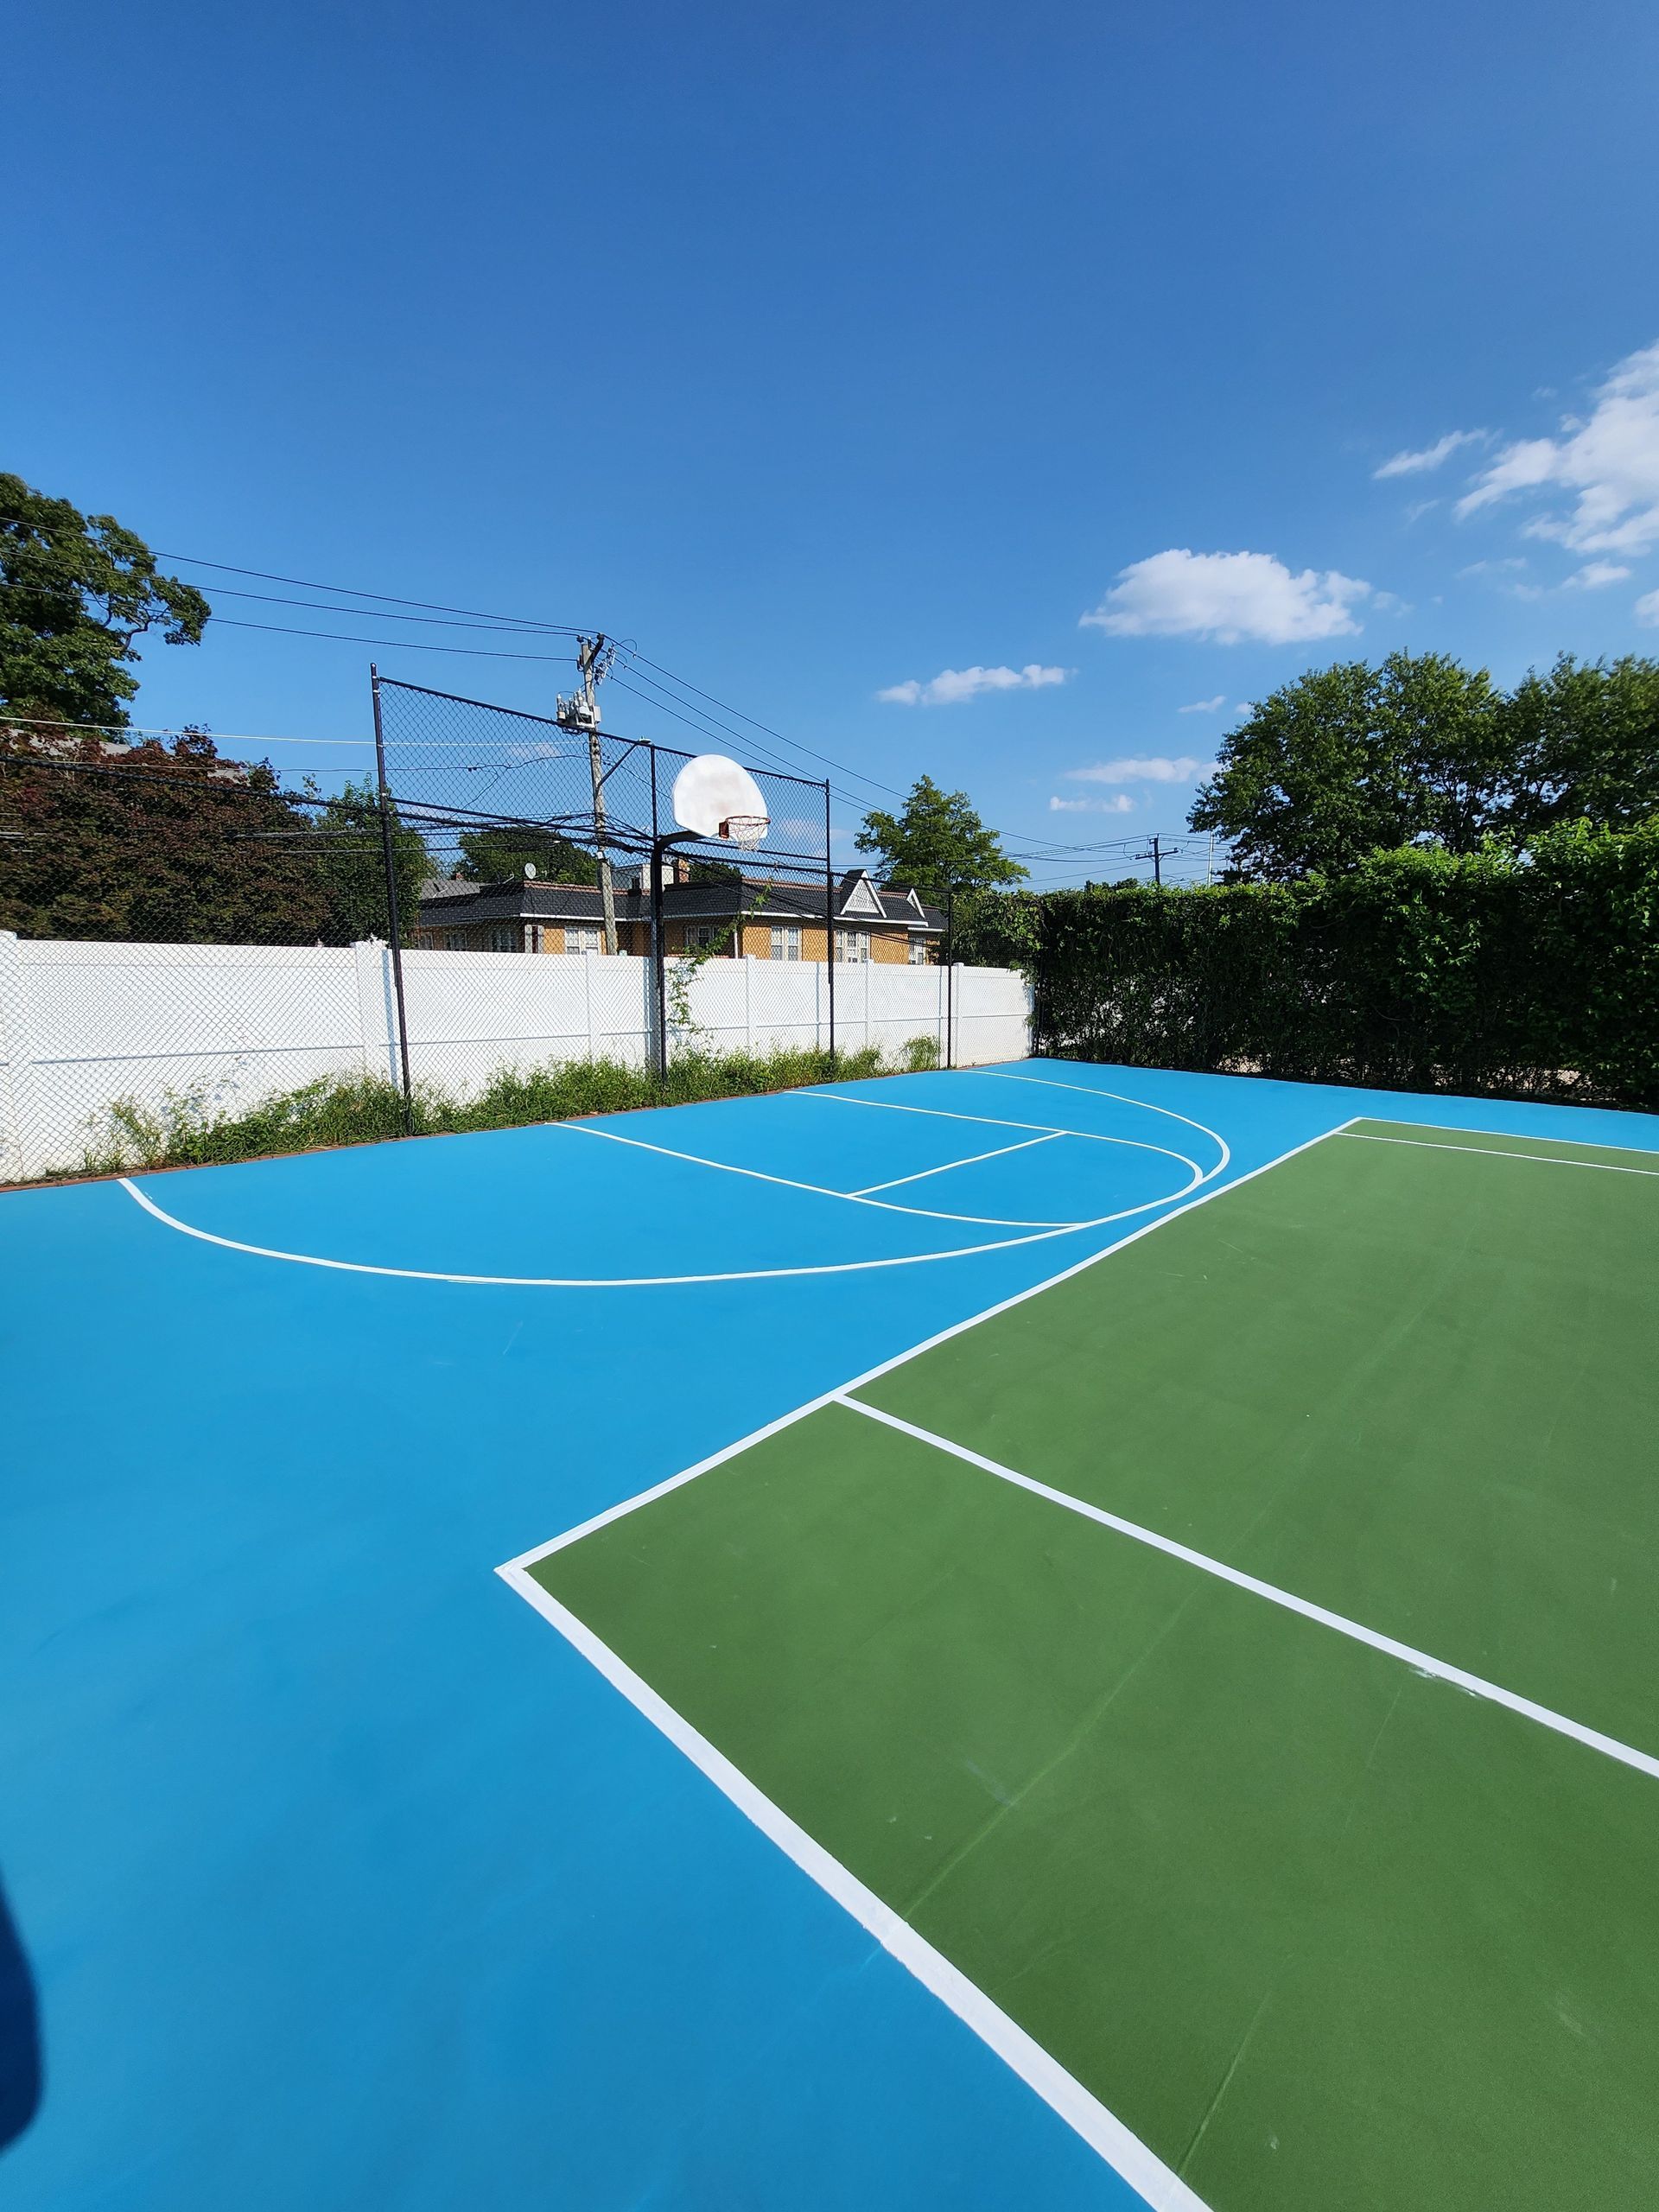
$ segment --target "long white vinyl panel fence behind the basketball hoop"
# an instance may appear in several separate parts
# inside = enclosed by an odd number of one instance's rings
[[[626,953],[403,956],[416,1082],[467,1095],[502,1068],[650,1051],[650,962]],[[947,1051],[947,998],[953,1053]],[[830,1042],[814,962],[708,960],[679,1048]],[[672,995],[670,995],[672,1006]],[[836,969],[836,1044],[896,1060],[931,1037],[958,1066],[1029,1051],[1031,991],[1009,969]],[[80,945],[0,931],[0,1179],[80,1166],[108,1108],[192,1099],[239,1113],[321,1075],[398,1079],[392,956],[265,945]]]

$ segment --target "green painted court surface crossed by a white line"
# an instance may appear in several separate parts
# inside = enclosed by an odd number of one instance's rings
[[[1650,2208],[1657,1352],[1360,1121],[529,1573],[1219,2212]]]

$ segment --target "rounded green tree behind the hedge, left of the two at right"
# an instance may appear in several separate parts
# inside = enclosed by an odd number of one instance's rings
[[[1504,823],[1511,768],[1484,670],[1391,653],[1314,668],[1254,706],[1188,821],[1234,841],[1237,876],[1270,883],[1425,838],[1473,852]]]

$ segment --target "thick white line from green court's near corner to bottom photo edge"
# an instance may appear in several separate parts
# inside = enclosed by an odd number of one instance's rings
[[[551,1621],[560,1635],[597,1668],[604,1679],[619,1690],[628,1703],[650,1721],[672,1745],[699,1767],[714,1787],[745,1814],[763,1836],[785,1851],[796,1867],[834,1898],[843,1911],[876,1938],[891,1958],[898,1960],[922,1989],[929,1989],[940,2004],[980,2037],[995,2055],[1020,2075],[1020,2079],[1042,2097],[1042,2101],[1066,2121],[1106,2163],[1146,2199],[1152,2212],[1206,2212],[1203,2199],[1175,2174],[1146,2143],[1133,2135],[1121,2119],[1106,2110],[1082,2081],[1048,2057],[1022,2026],[993,2004],[984,1991],[953,1966],[940,1951],[909,1927],[907,1920],[867,1889],[856,1874],[849,1874],[838,1858],[832,1858],[821,1843],[772,1803],[754,1783],[732,1765],[708,1736],[699,1734],[666,1699],[657,1697],[648,1681],[641,1681],[608,1644],[602,1644],[573,1613],[551,1597],[540,1582],[524,1573],[518,1562],[498,1566],[495,1573],[526,1604]]]

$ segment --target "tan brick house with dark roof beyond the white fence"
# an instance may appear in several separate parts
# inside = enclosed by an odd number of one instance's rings
[[[823,960],[825,889],[745,876],[732,883],[664,880],[664,951],[717,945],[717,958]],[[617,869],[617,951],[650,953],[650,889],[641,867]],[[741,916],[743,942],[732,942]],[[902,885],[878,885],[867,867],[849,869],[834,889],[836,960],[931,967],[940,960],[945,916]],[[591,883],[427,883],[411,942],[431,951],[597,953],[604,911]]]

